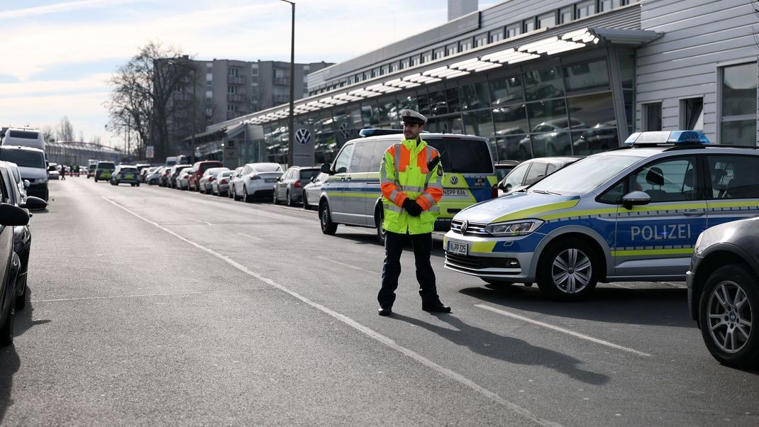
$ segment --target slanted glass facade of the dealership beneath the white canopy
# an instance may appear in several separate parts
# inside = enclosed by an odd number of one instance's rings
[[[635,56],[619,55],[628,133],[635,123]],[[331,162],[365,127],[400,128],[400,111],[426,115],[430,132],[490,141],[493,160],[587,155],[619,146],[605,56],[559,65],[503,69],[324,108],[296,120],[313,126],[317,164]],[[474,77],[474,78],[473,78]],[[736,123],[735,126],[738,126]],[[723,127],[732,132],[735,127]],[[268,161],[287,161],[287,119],[264,124]],[[241,159],[242,160],[242,159]],[[247,159],[245,159],[247,160]]]

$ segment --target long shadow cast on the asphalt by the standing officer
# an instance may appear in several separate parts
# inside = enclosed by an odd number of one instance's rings
[[[517,338],[504,337],[484,329],[475,328],[452,315],[438,315],[436,317],[451,325],[455,330],[432,325],[395,312],[392,314],[392,319],[402,320],[435,332],[453,344],[469,347],[470,350],[483,356],[520,365],[542,365],[568,375],[570,378],[592,385],[603,385],[609,381],[609,377],[606,375],[578,368],[581,361],[564,353],[537,347]]]

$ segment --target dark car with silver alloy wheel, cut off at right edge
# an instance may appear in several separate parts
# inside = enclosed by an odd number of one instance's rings
[[[688,309],[709,352],[735,368],[759,367],[759,217],[707,228],[696,240]]]

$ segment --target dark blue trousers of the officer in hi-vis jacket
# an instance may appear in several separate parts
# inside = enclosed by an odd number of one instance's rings
[[[377,301],[379,306],[392,307],[395,303],[395,290],[398,289],[398,277],[401,275],[401,254],[403,244],[411,239],[414,247],[414,261],[417,267],[417,281],[419,282],[419,295],[422,303],[439,303],[437,287],[435,286],[435,272],[430,264],[432,252],[432,233],[426,234],[398,234],[388,231],[385,237],[385,262],[382,268],[382,288],[379,289]]]

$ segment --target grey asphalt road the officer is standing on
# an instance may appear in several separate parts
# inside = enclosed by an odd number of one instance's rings
[[[445,270],[436,239],[452,314],[421,311],[409,248],[383,318],[373,230],[84,177],[50,193],[5,425],[759,425],[757,372],[711,358],[679,283],[557,303]]]

